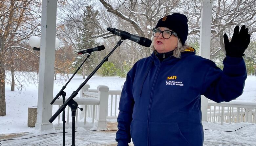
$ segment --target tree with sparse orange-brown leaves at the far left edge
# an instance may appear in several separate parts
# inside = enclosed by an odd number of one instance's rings
[[[5,70],[8,67],[11,68],[11,88],[14,89],[14,71],[15,66],[18,65],[16,49],[34,54],[31,50],[18,45],[32,34],[40,32],[38,29],[40,24],[32,23],[41,17],[36,11],[40,4],[36,0],[0,1],[0,116],[6,115]]]

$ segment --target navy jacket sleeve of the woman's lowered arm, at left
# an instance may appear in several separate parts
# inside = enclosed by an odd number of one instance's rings
[[[134,106],[134,99],[132,95],[134,67],[127,73],[126,81],[124,82],[123,89],[119,101],[119,114],[117,117],[117,133],[116,141],[117,146],[128,146],[131,142],[130,125],[132,121],[132,113]]]

